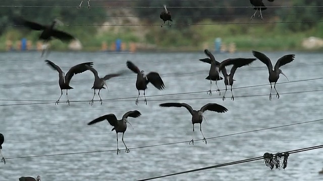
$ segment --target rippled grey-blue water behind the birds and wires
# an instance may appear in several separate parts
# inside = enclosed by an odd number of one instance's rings
[[[266,52],[264,52],[266,53]],[[276,52],[266,55],[276,60],[287,53],[295,53],[295,60],[282,67],[290,81],[323,77],[322,56],[317,53]],[[250,53],[214,54],[220,61],[226,58],[253,58]],[[184,92],[207,91],[209,65],[198,61],[201,53],[58,53],[52,52],[47,59],[61,66],[63,71],[81,62],[93,61],[100,76],[126,69],[126,60],[133,61],[146,72],[157,71],[163,78],[166,89],[158,91],[149,84],[147,96]],[[5,100],[43,100],[55,102],[60,96],[58,73],[49,68],[39,52],[0,54],[1,95]],[[5,135],[3,154],[7,158],[45,154],[111,150],[85,154],[7,159],[0,163],[0,180],[18,180],[22,175],[42,180],[136,180],[174,172],[238,161],[263,155],[264,152],[283,152],[322,144],[322,122],[314,122],[259,132],[208,139],[207,145],[195,141],[131,149],[163,143],[190,141],[192,139],[191,116],[185,108],[160,108],[166,102],[185,102],[199,109],[206,103],[225,106],[227,113],[205,112],[202,130],[206,138],[261,128],[286,125],[322,119],[322,92],[288,94],[283,93],[319,90],[322,80],[278,84],[281,98],[268,101],[270,85],[253,88],[234,89],[235,101],[231,93],[222,101],[219,94],[206,93],[147,97],[146,106],[141,98],[135,105],[137,90],[136,75],[129,73],[107,81],[109,92],[101,91],[102,99],[127,98],[114,102],[104,101],[103,105],[88,101],[93,96],[91,89],[93,74],[90,71],[77,74],[70,85],[68,106],[62,96],[59,106],[36,104],[4,106],[7,104],[41,103],[37,101],[0,101],[0,132]],[[251,66],[237,70],[234,87],[268,83],[268,72],[259,60]],[[279,82],[287,81],[281,76]],[[218,82],[221,89],[223,81]],[[216,86],[213,84],[212,89]],[[222,92],[222,94],[224,91]],[[242,97],[265,95],[262,97]],[[204,98],[204,99],[193,99]],[[98,98],[96,97],[96,100]],[[179,99],[179,100],[170,100]],[[163,100],[163,101],[162,101]],[[139,110],[142,116],[129,118],[134,129],[128,126],[125,142],[130,153],[121,150],[116,154],[116,133],[106,121],[88,126],[87,123],[104,114],[114,113],[118,119],[130,110]],[[195,126],[195,139],[201,139],[199,126]],[[119,134],[119,146],[124,149]],[[291,154],[285,170],[271,170],[262,160],[208,169],[163,178],[164,180],[322,180],[318,171],[323,164],[322,150],[312,150]],[[159,179],[161,180],[161,179]]]

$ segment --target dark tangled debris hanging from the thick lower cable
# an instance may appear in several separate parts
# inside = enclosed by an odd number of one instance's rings
[[[285,168],[287,167],[288,156],[289,152],[278,152],[276,154],[266,152],[263,154],[263,162],[267,167],[270,167],[271,169],[273,169],[274,167],[275,169],[281,169],[281,167],[283,167],[283,169],[285,170]]]

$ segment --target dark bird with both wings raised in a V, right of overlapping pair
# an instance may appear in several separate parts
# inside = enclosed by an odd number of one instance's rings
[[[271,93],[269,95],[269,100],[272,101],[272,82],[275,82],[274,84],[274,88],[276,91],[276,97],[277,99],[279,99],[279,94],[277,92],[276,89],[276,82],[279,79],[279,74],[283,74],[286,78],[287,76],[283,73],[283,71],[281,69],[279,69],[281,66],[286,65],[287,63],[290,63],[294,60],[295,55],[294,54],[288,54],[288,55],[284,55],[283,57],[279,58],[275,64],[274,70],[273,70],[273,64],[270,58],[268,58],[266,55],[264,55],[263,53],[257,52],[257,51],[252,51],[253,56],[255,56],[256,58],[258,58],[262,63],[264,63],[267,68],[268,68],[268,72],[269,72],[269,77],[268,80],[271,83]],[[288,78],[287,78],[288,80]],[[288,80],[289,81],[289,80]]]

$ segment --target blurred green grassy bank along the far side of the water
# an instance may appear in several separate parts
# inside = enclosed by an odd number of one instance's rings
[[[310,36],[323,38],[323,32],[320,31],[323,29],[323,23],[318,23],[316,27],[302,32],[288,31],[285,27],[286,24],[280,23],[234,24],[233,22],[224,25],[205,20],[199,24],[204,25],[164,26],[163,28],[159,26],[136,28],[125,26],[106,31],[100,30],[100,33],[96,27],[63,27],[63,30],[71,32],[82,42],[83,51],[99,51],[102,42],[106,42],[110,47],[118,38],[128,43],[154,45],[141,46],[139,49],[142,50],[165,51],[214,49],[214,39],[217,37],[220,37],[223,43],[235,43],[237,51],[249,51],[255,47],[259,51],[304,50],[301,45],[304,38]],[[6,40],[8,39],[15,42],[24,37],[35,45],[39,33],[9,28],[0,37],[0,50],[6,49]],[[52,41],[51,48],[53,50],[68,50],[68,45],[55,40]]]

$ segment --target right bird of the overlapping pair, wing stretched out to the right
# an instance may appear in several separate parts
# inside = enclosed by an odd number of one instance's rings
[[[245,66],[245,65],[249,65],[250,63],[252,63],[253,61],[256,60],[256,58],[236,58],[236,59],[238,59],[235,61],[237,63],[233,64],[229,75],[227,73],[226,67],[224,67],[222,69],[222,74],[224,76],[224,84],[226,85],[226,92],[224,92],[224,95],[222,98],[223,101],[226,99],[225,96],[227,93],[227,86],[229,86],[229,85],[231,85],[231,94],[232,94],[231,100],[234,101],[234,96],[232,93],[232,85],[233,85],[233,81],[235,81],[233,79],[233,76],[234,76],[234,73],[236,72],[237,68]]]

